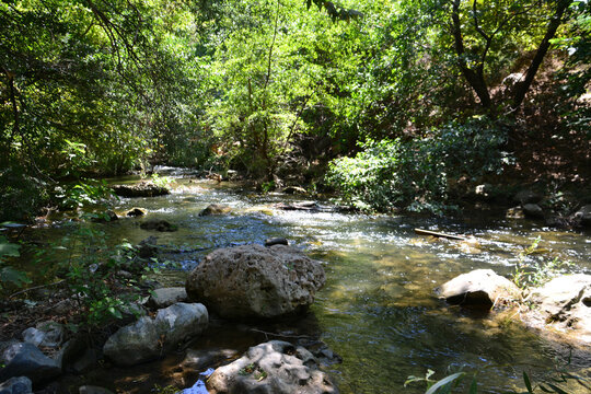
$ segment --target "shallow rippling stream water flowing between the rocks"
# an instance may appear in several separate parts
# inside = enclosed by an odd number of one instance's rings
[[[138,243],[157,235],[159,244],[175,251],[164,257],[184,269],[194,267],[216,247],[263,243],[275,236],[287,237],[296,247],[324,262],[326,286],[317,293],[309,315],[292,324],[290,333],[320,336],[343,357],[343,363],[328,368],[343,393],[420,393],[425,391],[420,384],[403,387],[407,376],[424,375],[431,369],[440,379],[448,370],[460,368],[478,371],[479,392],[500,393],[522,386],[522,371],[541,379],[555,364],[558,354],[551,343],[519,324],[448,306],[433,297],[433,288],[476,268],[491,268],[509,276],[519,252],[538,236],[540,246],[553,257],[576,263],[578,271],[589,271],[589,234],[553,231],[524,220],[490,219],[482,213],[447,220],[329,209],[283,211],[274,207],[301,199],[256,195],[235,185],[185,176],[176,179],[172,195],[121,199],[115,208],[123,212],[142,207],[149,212],[147,217],[92,225],[101,227],[117,242],[127,239]],[[225,204],[232,212],[199,217],[212,202]],[[178,231],[141,230],[139,223],[148,218],[165,219],[177,224]],[[479,246],[419,236],[414,228],[474,235]],[[183,270],[171,270],[159,280],[178,285],[184,275]],[[276,325],[265,329],[287,328]],[[243,351],[263,340],[265,335],[260,333],[218,322],[195,347],[221,346]],[[178,384],[174,366],[182,357],[173,355],[134,369],[112,368],[106,373],[96,372],[93,379],[120,392],[149,392],[147,387],[154,382],[161,386],[173,381]],[[571,368],[590,363],[575,360]],[[183,376],[181,382],[189,387],[196,379],[197,374]]]

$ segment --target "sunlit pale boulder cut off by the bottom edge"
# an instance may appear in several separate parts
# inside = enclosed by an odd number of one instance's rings
[[[218,368],[208,385],[216,393],[338,393],[317,360],[303,347],[281,340],[254,346],[236,361]]]

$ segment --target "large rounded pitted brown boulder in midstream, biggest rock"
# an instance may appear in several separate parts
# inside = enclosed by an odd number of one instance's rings
[[[321,263],[292,247],[243,245],[206,256],[186,289],[222,317],[277,317],[305,310],[324,281]]]

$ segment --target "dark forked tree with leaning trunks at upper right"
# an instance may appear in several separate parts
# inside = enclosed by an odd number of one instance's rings
[[[528,47],[537,40],[529,67],[512,89],[511,106],[521,105],[571,3],[572,0],[453,0],[450,16],[457,66],[483,107],[491,108],[495,104],[487,80],[487,71],[493,71],[490,66],[495,62],[491,57],[498,57],[508,43]]]

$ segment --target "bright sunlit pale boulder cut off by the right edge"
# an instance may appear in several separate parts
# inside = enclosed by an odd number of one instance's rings
[[[591,343],[591,275],[565,275],[532,290],[533,303],[526,322],[569,332]]]

